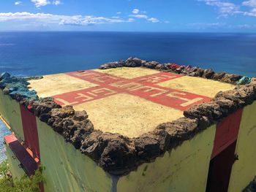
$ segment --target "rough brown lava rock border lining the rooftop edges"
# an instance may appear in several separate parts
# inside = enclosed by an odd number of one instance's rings
[[[159,64],[156,61],[143,61],[129,58],[100,66],[110,69],[122,66],[144,66],[165,72],[176,72],[193,77],[204,77],[235,84],[241,75],[216,73],[211,69],[192,66],[174,66]],[[198,132],[206,129],[236,110],[252,104],[256,100],[256,80],[252,78],[246,85],[237,85],[235,89],[219,92],[208,103],[195,105],[184,111],[184,118],[162,123],[154,131],[140,137],[129,138],[121,134],[103,133],[94,129],[86,111],[75,111],[73,107],[61,107],[53,98],[39,99],[35,91],[28,88],[29,82],[21,77],[0,75],[0,88],[4,94],[23,104],[40,120],[61,134],[81,153],[88,155],[106,172],[114,175],[128,174],[140,164],[154,161],[167,150],[181,145]]]

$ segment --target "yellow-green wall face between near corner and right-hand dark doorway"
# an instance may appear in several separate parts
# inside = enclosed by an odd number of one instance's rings
[[[154,163],[143,164],[136,172],[121,177],[118,191],[206,191],[215,129],[207,128]]]

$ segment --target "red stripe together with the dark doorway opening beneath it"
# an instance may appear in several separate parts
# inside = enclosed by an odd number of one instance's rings
[[[226,192],[232,166],[236,161],[236,141],[243,110],[238,110],[217,123],[214,149],[208,170],[207,192]]]

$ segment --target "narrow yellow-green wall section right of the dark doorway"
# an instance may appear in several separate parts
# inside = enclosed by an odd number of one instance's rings
[[[238,161],[233,164],[230,192],[242,191],[256,175],[256,101],[244,107],[236,154]]]

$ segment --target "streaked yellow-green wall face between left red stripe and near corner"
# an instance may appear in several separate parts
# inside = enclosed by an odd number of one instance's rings
[[[111,191],[112,179],[91,158],[37,118],[45,192]]]

